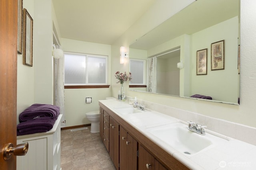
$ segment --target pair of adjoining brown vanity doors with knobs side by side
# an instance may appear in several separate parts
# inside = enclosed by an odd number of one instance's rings
[[[119,141],[120,170],[136,170],[138,142],[121,126]]]

